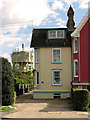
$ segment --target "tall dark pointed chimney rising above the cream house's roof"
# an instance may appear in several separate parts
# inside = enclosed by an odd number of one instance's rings
[[[74,26],[75,26],[75,22],[73,20],[74,11],[73,11],[73,8],[72,8],[71,5],[70,5],[69,10],[67,12],[67,16],[68,16],[67,28],[68,28],[69,31],[73,31]]]

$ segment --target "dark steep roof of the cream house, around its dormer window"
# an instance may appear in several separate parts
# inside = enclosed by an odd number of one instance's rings
[[[65,38],[63,39],[48,39],[49,30],[65,30]],[[45,28],[33,29],[32,40],[30,47],[71,47],[71,32],[67,28]]]

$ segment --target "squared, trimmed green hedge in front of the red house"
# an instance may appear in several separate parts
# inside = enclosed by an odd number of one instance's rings
[[[73,90],[74,110],[86,111],[89,106],[89,91],[87,89]]]

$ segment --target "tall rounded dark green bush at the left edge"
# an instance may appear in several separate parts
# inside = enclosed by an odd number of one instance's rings
[[[2,59],[2,105],[14,103],[14,77],[10,62]]]

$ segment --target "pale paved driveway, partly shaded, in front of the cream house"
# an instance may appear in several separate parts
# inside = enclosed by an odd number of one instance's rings
[[[7,114],[3,117],[36,119],[81,118],[82,120],[84,120],[84,118],[88,118],[88,112],[72,111],[70,100],[33,100],[32,93],[25,93],[24,95],[19,96],[17,98],[16,105],[18,106],[16,112]]]

